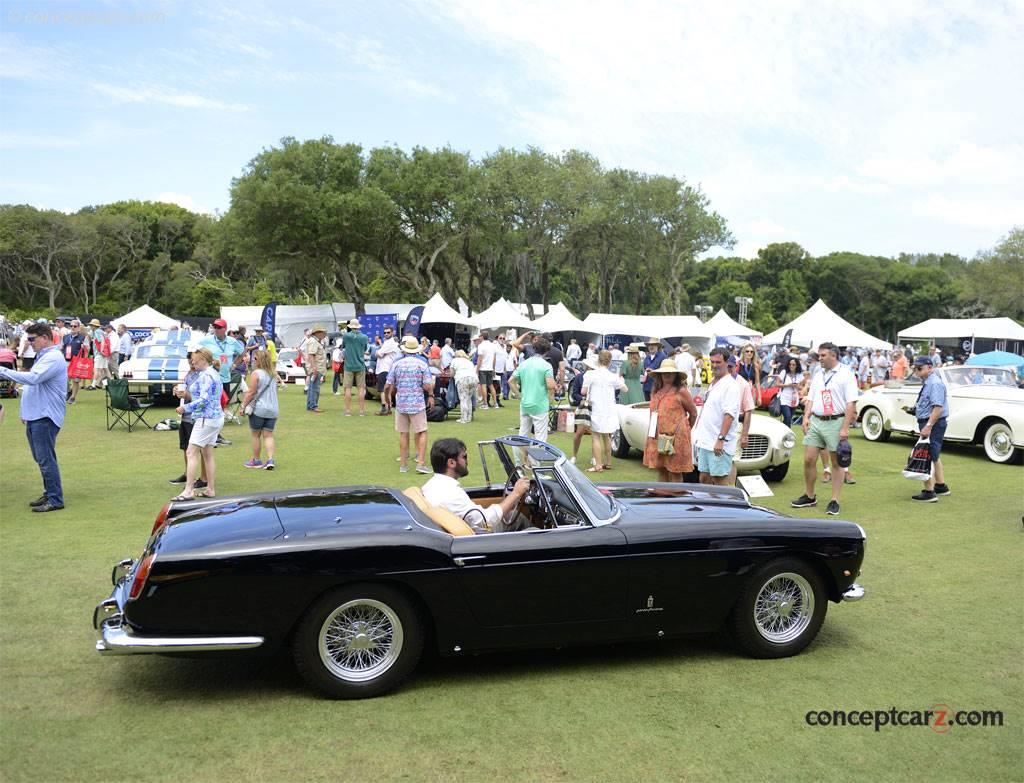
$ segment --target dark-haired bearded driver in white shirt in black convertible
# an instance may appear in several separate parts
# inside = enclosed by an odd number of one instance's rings
[[[529,489],[529,479],[516,481],[500,504],[479,506],[459,485],[459,479],[469,475],[467,462],[466,444],[458,438],[435,441],[430,449],[430,467],[434,475],[423,485],[427,502],[464,519],[477,533],[507,533],[529,527],[529,521],[516,513],[519,501]]]

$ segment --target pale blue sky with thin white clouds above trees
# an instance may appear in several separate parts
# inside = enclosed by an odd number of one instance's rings
[[[1024,224],[1024,2],[0,3],[0,203],[226,210],[283,136],[578,147],[736,253],[973,256]]]

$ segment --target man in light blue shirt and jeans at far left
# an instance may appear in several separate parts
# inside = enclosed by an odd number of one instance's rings
[[[63,426],[65,395],[68,391],[68,364],[53,332],[47,323],[33,323],[26,329],[29,344],[36,350],[36,361],[28,373],[0,366],[0,378],[25,385],[20,415],[29,438],[32,458],[43,477],[43,494],[29,504],[33,511],[58,511],[63,508],[63,488],[57,466],[57,433]]]

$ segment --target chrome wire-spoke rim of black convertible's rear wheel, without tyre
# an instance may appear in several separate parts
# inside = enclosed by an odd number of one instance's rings
[[[387,604],[356,599],[339,606],[321,626],[319,655],[335,677],[366,682],[394,665],[401,653],[401,621]]]

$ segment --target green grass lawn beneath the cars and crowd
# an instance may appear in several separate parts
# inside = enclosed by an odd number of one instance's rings
[[[234,445],[217,450],[218,492],[421,483],[398,473],[391,420],[344,419],[340,399],[328,392],[328,412],[314,416],[300,389],[282,395],[273,473],[242,467],[248,429],[228,425]],[[93,607],[110,593],[111,566],[139,554],[175,493],[177,434],[106,432],[102,394],[82,392],[57,441],[67,509],[32,514],[39,473],[16,401],[5,407],[0,779],[1024,779],[1024,470],[994,466],[981,449],[950,447],[952,495],[918,506],[916,483],[900,476],[910,441],[854,435],[858,483],[845,487],[842,517],[867,531],[867,597],[829,605],[797,657],[751,660],[715,638],[432,659],[392,695],[334,702],[287,657],[97,655]],[[517,421],[513,407],[480,411],[469,426],[432,424],[430,435],[475,441]],[[552,441],[571,448],[567,435]],[[478,460],[471,469],[467,483],[480,479]],[[650,477],[636,453],[605,474]],[[803,491],[799,466],[773,488],[764,505],[788,513]],[[999,709],[1005,725],[938,734],[804,721],[812,709],[938,703]]]

